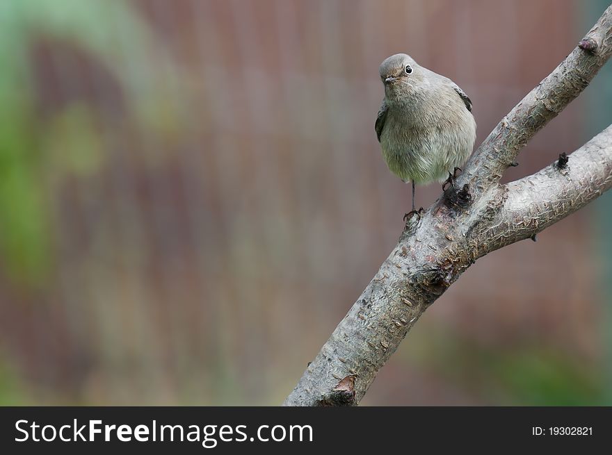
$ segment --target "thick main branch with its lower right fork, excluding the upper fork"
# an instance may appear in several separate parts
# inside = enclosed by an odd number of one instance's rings
[[[612,186],[612,126],[566,167],[557,163],[492,188],[465,213],[441,202],[410,226],[284,404],[357,404],[414,322],[474,260],[531,237]]]

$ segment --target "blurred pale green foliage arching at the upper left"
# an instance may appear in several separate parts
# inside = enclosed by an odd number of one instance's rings
[[[118,29],[129,31],[129,40],[116,42]],[[164,101],[155,77],[140,73],[152,66],[147,62],[153,54],[152,36],[128,3],[0,2],[1,265],[13,280],[31,286],[45,281],[53,262],[49,195],[54,185],[67,175],[95,172],[105,159],[101,130],[95,128],[100,119],[87,104],[77,100],[51,119],[37,111],[30,57],[42,41],[77,47],[113,72],[137,124],[154,133],[168,122],[159,114]],[[136,61],[120,65],[122,54]],[[70,74],[63,77],[71,83]]]

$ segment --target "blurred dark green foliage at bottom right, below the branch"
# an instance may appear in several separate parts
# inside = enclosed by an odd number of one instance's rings
[[[435,334],[432,336],[432,334]],[[485,347],[461,336],[430,328],[430,342],[412,362],[461,384],[490,404],[506,406],[597,406],[606,390],[602,371],[588,361],[533,342]]]

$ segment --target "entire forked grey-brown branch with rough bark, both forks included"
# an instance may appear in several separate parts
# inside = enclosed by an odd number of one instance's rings
[[[612,126],[524,179],[499,179],[526,142],[586,88],[612,53],[612,6],[576,49],[499,122],[398,244],[285,406],[356,405],[421,314],[474,261],[530,238],[612,185]]]

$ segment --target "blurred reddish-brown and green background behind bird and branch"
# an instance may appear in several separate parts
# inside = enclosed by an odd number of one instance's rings
[[[0,1],[0,404],[280,404],[410,206],[380,62],[456,81],[480,143],[607,3]],[[611,76],[506,181],[608,126]],[[611,208],[478,260],[363,404],[612,404]]]

